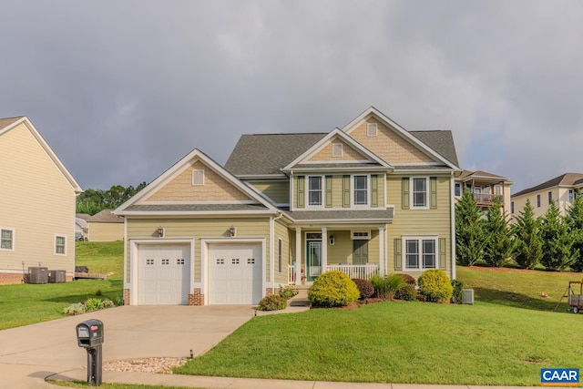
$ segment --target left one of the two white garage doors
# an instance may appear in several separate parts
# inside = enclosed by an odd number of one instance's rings
[[[188,304],[189,245],[138,245],[138,304]]]

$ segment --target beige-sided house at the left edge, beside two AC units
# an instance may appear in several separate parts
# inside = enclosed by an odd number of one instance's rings
[[[23,282],[29,267],[70,280],[77,181],[26,117],[0,119],[0,164],[0,283]]]

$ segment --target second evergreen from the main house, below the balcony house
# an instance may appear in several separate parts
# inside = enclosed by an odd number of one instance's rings
[[[506,214],[502,212],[502,202],[498,197],[488,207],[486,215],[486,247],[484,260],[490,266],[501,267],[514,255],[515,241]]]

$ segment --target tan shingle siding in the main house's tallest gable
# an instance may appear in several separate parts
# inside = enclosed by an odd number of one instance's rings
[[[378,129],[376,137],[366,136],[367,123],[377,123]],[[360,126],[354,128],[350,133],[350,136],[365,148],[373,151],[374,154],[389,163],[419,163],[433,161],[433,159],[428,157],[419,148],[414,147],[407,140],[397,135],[393,129],[387,128],[374,118],[369,118],[368,121],[364,121]]]

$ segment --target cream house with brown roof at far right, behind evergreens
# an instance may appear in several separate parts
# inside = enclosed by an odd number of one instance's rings
[[[518,215],[524,210],[527,200],[534,210],[534,216],[544,216],[548,206],[555,202],[561,215],[567,215],[567,210],[575,200],[578,190],[583,188],[583,174],[565,173],[554,179],[549,179],[534,187],[520,190],[511,196],[512,214]]]

